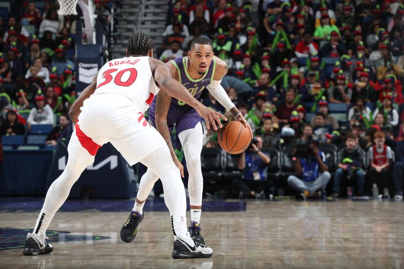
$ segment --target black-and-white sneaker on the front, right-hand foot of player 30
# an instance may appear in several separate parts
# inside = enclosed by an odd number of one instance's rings
[[[171,254],[174,259],[209,258],[212,255],[212,248],[194,242],[189,233],[186,237],[174,236],[174,249]]]

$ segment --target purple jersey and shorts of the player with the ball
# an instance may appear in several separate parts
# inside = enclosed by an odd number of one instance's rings
[[[205,75],[199,79],[192,79],[186,69],[186,61],[188,57],[178,57],[170,62],[178,71],[179,82],[188,89],[188,91],[196,98],[199,99],[202,91],[213,82],[213,77],[216,69],[216,60],[213,58]],[[149,122],[156,126],[155,123],[155,111],[156,111],[156,98],[150,105],[149,110]],[[167,124],[172,131],[174,124],[176,125],[177,134],[184,130],[192,129],[198,122],[201,121],[200,116],[190,105],[179,101],[172,97],[170,108],[167,114]]]

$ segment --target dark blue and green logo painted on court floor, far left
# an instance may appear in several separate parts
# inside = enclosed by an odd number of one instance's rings
[[[0,250],[24,248],[27,233],[32,229],[20,228],[0,228]],[[94,241],[102,239],[110,239],[108,236],[88,236],[88,235],[69,235],[70,232],[62,231],[46,231],[46,236],[52,242],[71,242],[71,241]]]

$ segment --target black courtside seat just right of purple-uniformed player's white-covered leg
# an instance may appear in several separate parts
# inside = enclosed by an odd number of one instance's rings
[[[222,178],[222,150],[220,148],[203,148],[200,164],[204,180],[215,181]]]

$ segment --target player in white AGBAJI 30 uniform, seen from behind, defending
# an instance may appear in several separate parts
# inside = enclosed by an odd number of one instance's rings
[[[187,233],[180,171],[163,137],[143,116],[159,91],[156,82],[162,91],[194,107],[215,129],[216,122],[221,126],[223,115],[198,102],[171,78],[165,64],[153,59],[151,38],[143,33],[132,35],[127,57],[106,63],[72,105],[69,116],[77,123],[68,145],[69,159],[63,173],[46,193],[33,233],[27,235],[24,255],[53,251],[45,240],[49,223],[81,173],[94,162],[98,148],[111,142],[129,165],[141,162],[161,178],[175,236],[173,258],[212,256],[211,248],[193,242]]]

